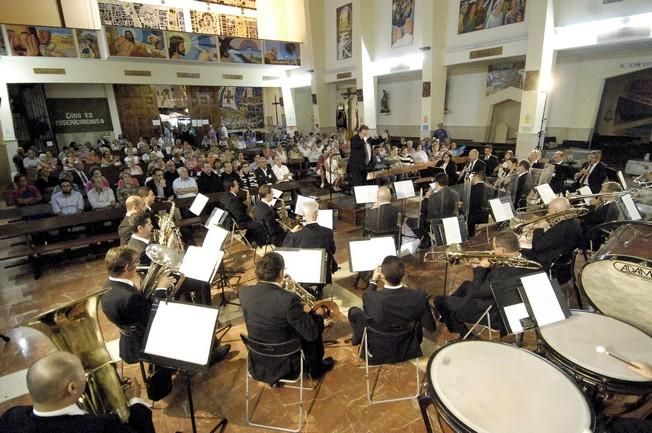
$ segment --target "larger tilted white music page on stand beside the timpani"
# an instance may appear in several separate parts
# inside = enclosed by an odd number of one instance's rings
[[[566,319],[548,274],[540,272],[521,277],[521,282],[539,327]]]

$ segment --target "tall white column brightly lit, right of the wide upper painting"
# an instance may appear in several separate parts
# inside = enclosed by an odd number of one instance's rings
[[[528,2],[528,48],[525,59],[527,77],[538,71],[538,84],[523,90],[516,157],[524,159],[539,142],[539,131],[545,129],[545,111],[549,111],[548,93],[555,62],[553,47],[555,23],[553,0]],[[542,122],[543,119],[543,122]]]

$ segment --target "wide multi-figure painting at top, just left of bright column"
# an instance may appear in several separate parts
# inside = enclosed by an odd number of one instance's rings
[[[526,0],[460,0],[457,33],[520,23]]]

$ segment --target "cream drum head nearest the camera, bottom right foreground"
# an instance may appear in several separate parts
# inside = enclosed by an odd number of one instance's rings
[[[454,343],[430,358],[427,377],[436,403],[470,430],[591,432],[593,415],[580,389],[532,352],[488,341]]]

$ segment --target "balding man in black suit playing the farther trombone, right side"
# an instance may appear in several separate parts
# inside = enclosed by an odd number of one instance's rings
[[[571,208],[568,199],[557,197],[548,203],[548,215],[553,216]],[[582,226],[577,218],[566,219],[553,226],[546,220],[541,220],[534,223],[532,249],[524,254],[541,263],[544,269],[549,269],[558,259],[570,257],[580,245],[581,238]]]

